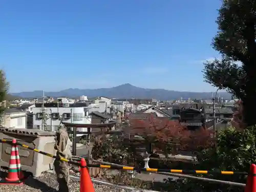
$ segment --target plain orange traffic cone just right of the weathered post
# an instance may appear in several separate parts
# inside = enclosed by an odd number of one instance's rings
[[[81,159],[80,167],[80,192],[95,192],[93,182],[86,166],[86,160]]]

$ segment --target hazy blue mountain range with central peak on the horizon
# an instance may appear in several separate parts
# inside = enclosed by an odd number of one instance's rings
[[[42,91],[32,92],[20,92],[11,93],[13,96],[19,96],[23,98],[39,98],[42,97]],[[104,96],[109,98],[138,98],[148,99],[154,98],[158,100],[172,100],[172,99],[197,99],[197,98],[211,98],[210,92],[180,92],[169,91],[164,89],[144,89],[132,86],[132,84],[126,83],[121,86],[113,88],[101,88],[101,89],[67,89],[58,92],[45,92],[46,96],[52,97],[79,97],[85,95],[89,98]],[[230,99],[231,95],[226,92],[218,93],[220,97],[224,99]]]

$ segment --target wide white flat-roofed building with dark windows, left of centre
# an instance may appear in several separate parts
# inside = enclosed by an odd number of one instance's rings
[[[42,106],[42,103],[36,103],[35,108],[32,109],[33,129],[42,130],[46,127],[46,131],[57,131],[61,121],[78,124],[91,124],[92,122],[90,115],[88,115],[86,103],[62,103],[60,100],[58,103],[44,104],[47,118],[43,124]],[[77,128],[77,131],[87,132],[87,128]]]

